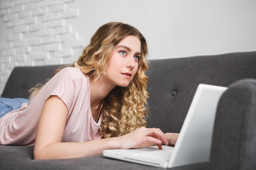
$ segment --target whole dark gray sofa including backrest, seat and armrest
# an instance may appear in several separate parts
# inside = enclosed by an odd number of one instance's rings
[[[57,66],[16,67],[2,97],[28,97]],[[219,101],[209,162],[175,170],[256,169],[256,52],[151,60],[148,127],[179,132],[200,83],[228,86]],[[200,139],[198,139],[200,140]],[[33,146],[0,146],[1,170],[155,170],[105,158],[33,160]]]

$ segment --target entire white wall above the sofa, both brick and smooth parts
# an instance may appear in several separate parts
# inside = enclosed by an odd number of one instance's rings
[[[0,0],[0,93],[14,66],[72,62],[112,21],[137,27],[150,59],[256,51],[255,0]]]

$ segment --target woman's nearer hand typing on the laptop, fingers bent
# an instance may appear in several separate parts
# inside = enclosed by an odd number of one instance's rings
[[[118,148],[130,149],[145,146],[153,146],[157,144],[159,149],[162,149],[162,144],[167,145],[168,140],[164,132],[158,128],[141,127],[124,136],[116,138]]]

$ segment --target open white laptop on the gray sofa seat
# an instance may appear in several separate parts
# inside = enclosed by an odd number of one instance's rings
[[[226,89],[198,85],[174,147],[103,150],[103,156],[160,168],[209,161],[216,108]]]

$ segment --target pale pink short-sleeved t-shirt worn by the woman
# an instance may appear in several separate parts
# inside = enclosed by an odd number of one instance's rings
[[[63,142],[101,139],[100,124],[90,109],[90,79],[80,69],[66,67],[49,80],[27,104],[0,119],[1,145],[34,145],[38,120],[45,101],[57,95],[67,106]]]

